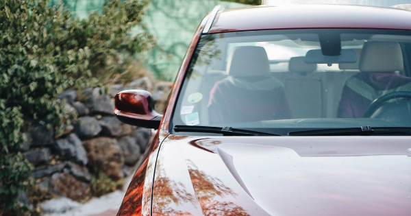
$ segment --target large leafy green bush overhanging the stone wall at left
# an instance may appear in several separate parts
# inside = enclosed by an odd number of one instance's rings
[[[21,154],[23,131],[42,121],[61,132],[71,123],[62,91],[104,84],[101,71],[105,80],[127,73],[134,54],[154,44],[145,32],[130,38],[148,3],[108,1],[79,20],[47,0],[0,0],[0,215],[25,211],[16,200],[33,167]]]

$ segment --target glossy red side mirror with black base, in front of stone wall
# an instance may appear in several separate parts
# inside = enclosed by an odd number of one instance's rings
[[[116,94],[114,114],[123,123],[157,129],[162,115],[154,111],[154,100],[148,91],[125,90]]]

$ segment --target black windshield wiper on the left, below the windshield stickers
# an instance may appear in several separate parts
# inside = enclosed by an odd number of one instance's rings
[[[254,130],[242,130],[232,127],[208,127],[208,126],[189,126],[189,125],[175,125],[175,132],[200,132],[200,133],[214,133],[223,134],[224,136],[281,136],[279,134],[270,134],[266,132],[259,132]]]

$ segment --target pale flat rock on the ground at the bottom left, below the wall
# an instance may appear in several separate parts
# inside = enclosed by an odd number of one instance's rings
[[[40,204],[40,207],[43,209],[44,213],[64,213],[73,208],[79,208],[82,204],[70,200],[67,197],[58,197],[51,200],[47,200]]]

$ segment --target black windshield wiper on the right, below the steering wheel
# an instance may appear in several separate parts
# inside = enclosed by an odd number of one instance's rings
[[[323,130],[305,130],[288,132],[288,136],[371,136],[371,135],[411,135],[411,128],[371,128],[371,126],[362,126],[360,128],[336,128]]]

